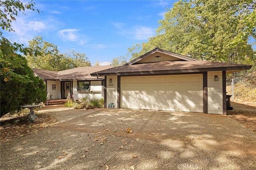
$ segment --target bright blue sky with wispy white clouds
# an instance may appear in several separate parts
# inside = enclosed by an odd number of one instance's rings
[[[24,1],[26,2],[26,1]],[[13,42],[28,45],[41,36],[60,53],[85,53],[91,65],[109,65],[128,48],[156,35],[158,21],[175,0],[34,0],[40,14],[19,15],[4,32]]]

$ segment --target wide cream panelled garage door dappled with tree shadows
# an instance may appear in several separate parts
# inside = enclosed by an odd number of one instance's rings
[[[121,77],[120,106],[203,112],[203,75]]]

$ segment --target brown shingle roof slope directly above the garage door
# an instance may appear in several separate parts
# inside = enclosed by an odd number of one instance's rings
[[[97,71],[95,73],[91,73],[91,75],[156,75],[225,70],[227,73],[232,73],[250,69],[251,67],[252,65],[218,63],[211,61],[161,61],[157,63],[123,65],[120,67]]]

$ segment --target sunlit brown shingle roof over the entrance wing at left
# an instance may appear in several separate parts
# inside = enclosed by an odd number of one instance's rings
[[[34,73],[44,80],[84,80],[97,79],[97,76],[91,76],[90,73],[102,71],[104,69],[113,68],[111,65],[94,66],[94,67],[78,67],[63,71],[49,71],[42,69],[32,69]]]

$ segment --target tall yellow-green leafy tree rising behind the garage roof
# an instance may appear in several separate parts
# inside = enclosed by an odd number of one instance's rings
[[[179,0],[159,21],[156,36],[143,43],[140,52],[131,50],[140,56],[159,47],[200,60],[255,65],[256,52],[248,43],[250,37],[256,38],[255,4],[255,0]]]

